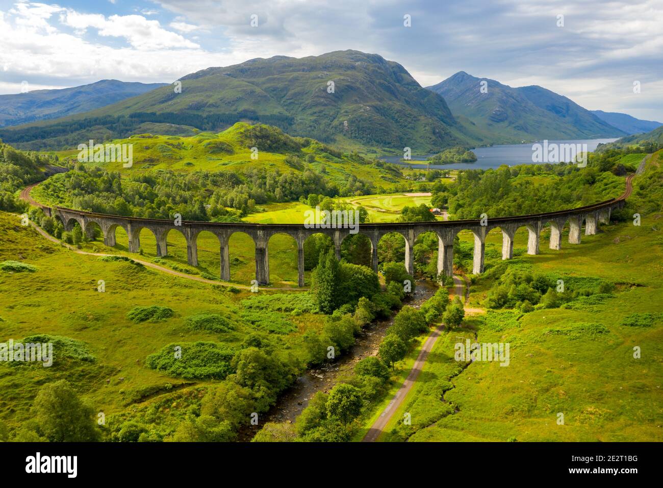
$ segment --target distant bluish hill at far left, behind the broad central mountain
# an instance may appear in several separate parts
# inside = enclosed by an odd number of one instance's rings
[[[0,127],[80,114],[150,92],[160,86],[164,86],[164,83],[101,80],[74,88],[0,95]]]

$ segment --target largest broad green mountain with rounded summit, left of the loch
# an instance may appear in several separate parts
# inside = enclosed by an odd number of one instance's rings
[[[90,135],[128,137],[146,122],[204,131],[262,122],[358,151],[410,147],[437,152],[481,140],[470,123],[454,118],[442,96],[378,54],[345,50],[257,58],[207,68],[180,82],[181,93],[164,86],[85,114],[3,129],[0,138],[43,149],[76,145]]]

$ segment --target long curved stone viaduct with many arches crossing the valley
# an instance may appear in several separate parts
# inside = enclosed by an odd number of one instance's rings
[[[453,272],[453,239],[461,230],[469,230],[474,234],[474,263],[473,273],[483,272],[485,251],[485,238],[492,229],[499,228],[503,236],[502,259],[508,260],[513,256],[513,238],[516,230],[524,226],[529,237],[527,244],[528,254],[538,254],[539,240],[542,228],[550,225],[550,248],[559,250],[562,246],[562,230],[569,224],[569,243],[580,244],[581,228],[585,227],[585,235],[597,232],[599,222],[608,223],[611,211],[622,208],[625,199],[631,193],[631,178],[627,179],[627,191],[619,198],[611,199],[597,204],[547,212],[542,214],[520,215],[512,217],[487,218],[482,224],[481,220],[446,220],[436,222],[394,222],[383,224],[359,224],[358,232],[371,240],[371,264],[377,271],[377,244],[389,232],[401,234],[405,240],[405,267],[411,274],[414,269],[413,248],[416,238],[424,232],[434,232],[438,236],[438,274],[450,276]],[[92,212],[83,212],[55,206],[44,208],[51,216],[59,218],[66,230],[72,230],[78,222],[83,232],[89,236],[93,232],[93,223],[101,228],[103,242],[107,246],[115,245],[115,229],[122,227],[129,236],[129,252],[139,252],[141,246],[139,236],[143,228],[151,230],[156,238],[157,256],[166,256],[168,248],[166,236],[174,228],[180,230],[186,238],[188,264],[198,266],[198,248],[196,240],[200,232],[206,230],[215,234],[219,239],[221,255],[221,280],[230,280],[229,238],[235,232],[245,232],[253,238],[255,243],[255,276],[259,284],[269,284],[269,238],[274,234],[287,234],[292,236],[298,249],[298,284],[304,286],[304,241],[312,234],[326,234],[333,240],[336,256],[340,257],[341,243],[350,234],[349,228],[312,228],[304,224],[234,224],[219,222],[196,222],[182,220],[176,226],[174,220],[161,220],[152,218],[133,218],[117,215],[106,215]]]

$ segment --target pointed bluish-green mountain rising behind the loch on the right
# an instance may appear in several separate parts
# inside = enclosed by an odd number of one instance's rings
[[[482,92],[482,85],[487,92]],[[626,134],[565,96],[540,86],[512,88],[460,71],[428,89],[442,95],[455,116],[467,117],[496,141],[595,139]]]

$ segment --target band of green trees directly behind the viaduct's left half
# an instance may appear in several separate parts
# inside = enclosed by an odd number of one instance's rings
[[[309,195],[369,195],[372,191],[371,183],[355,177],[349,177],[339,189],[309,168],[288,173],[156,170],[122,177],[119,172],[76,164],[68,173],[44,181],[35,195],[44,202],[90,212],[145,218],[172,218],[179,213],[185,220],[219,222],[254,212],[258,204],[298,201]]]

